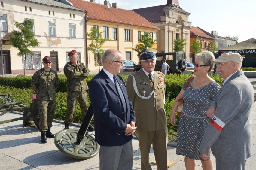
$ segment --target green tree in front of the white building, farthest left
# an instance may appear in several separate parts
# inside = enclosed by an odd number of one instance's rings
[[[18,31],[14,30],[10,34],[10,41],[14,48],[19,50],[17,53],[18,56],[25,55],[24,61],[24,75],[26,74],[26,55],[33,54],[28,47],[37,47],[39,42],[35,39],[35,35],[30,30],[33,29],[34,23],[31,20],[25,20],[23,23],[14,21],[14,25],[19,29]]]

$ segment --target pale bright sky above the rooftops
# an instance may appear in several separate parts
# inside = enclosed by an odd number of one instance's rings
[[[89,1],[89,0],[87,0]],[[103,4],[104,0],[96,0]],[[167,0],[109,0],[127,10],[164,5]],[[191,25],[219,36],[238,36],[238,42],[256,39],[255,0],[179,0],[179,6],[190,13]]]

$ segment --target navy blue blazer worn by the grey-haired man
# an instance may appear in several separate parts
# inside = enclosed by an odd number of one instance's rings
[[[132,102],[128,98],[123,79],[116,75],[126,100],[127,113],[124,112],[121,99],[114,82],[101,70],[89,84],[89,97],[93,106],[95,140],[101,146],[121,146],[132,139],[124,135],[127,124],[136,122]]]

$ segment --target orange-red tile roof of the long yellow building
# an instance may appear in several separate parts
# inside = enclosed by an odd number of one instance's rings
[[[77,8],[86,10],[87,16],[91,19],[159,29],[145,18],[130,10],[116,9],[114,7],[108,8],[107,5],[84,0],[69,0],[69,2]]]

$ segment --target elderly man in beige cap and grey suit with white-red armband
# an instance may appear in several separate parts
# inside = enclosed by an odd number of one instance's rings
[[[199,151],[202,159],[209,157],[209,148],[216,158],[216,170],[245,169],[251,156],[251,106],[254,90],[241,69],[239,53],[224,53],[213,62],[224,79],[218,95],[209,105],[206,115],[211,118]]]

